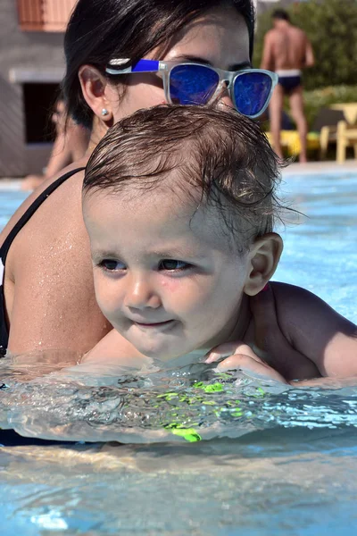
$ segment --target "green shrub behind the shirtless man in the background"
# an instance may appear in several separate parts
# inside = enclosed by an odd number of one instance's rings
[[[262,59],[263,38],[271,28],[272,10],[258,18],[253,63]],[[311,40],[315,66],[303,75],[306,89],[326,86],[357,85],[357,1],[310,0],[286,8],[291,21],[302,28]],[[357,94],[354,97],[357,101]]]

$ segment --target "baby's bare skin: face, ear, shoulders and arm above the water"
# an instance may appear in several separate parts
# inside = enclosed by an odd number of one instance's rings
[[[92,190],[83,198],[95,295],[114,328],[83,361],[141,368],[154,357],[180,366],[207,354],[207,363],[220,361],[219,371],[305,385],[353,372],[356,326],[304,289],[270,283],[259,320],[269,327],[278,311],[281,333],[256,331],[251,299],[275,271],[280,237],[246,243],[237,231],[244,246],[237,247],[216,206],[187,195],[178,172],[163,180],[151,191],[127,183],[118,193]],[[284,376],[267,352],[259,356],[272,336],[283,350],[275,359]]]

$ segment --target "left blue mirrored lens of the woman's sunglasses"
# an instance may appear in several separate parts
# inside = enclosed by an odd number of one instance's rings
[[[220,76],[204,65],[177,65],[170,71],[170,99],[177,105],[206,105]]]

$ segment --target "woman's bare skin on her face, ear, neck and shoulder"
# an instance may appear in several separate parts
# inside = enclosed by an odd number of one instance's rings
[[[192,57],[222,69],[235,69],[240,64],[246,66],[249,63],[245,21],[228,6],[207,12],[165,46],[165,50],[153,50],[150,57],[162,60]],[[115,47],[117,43],[112,44],[113,50]],[[114,122],[139,108],[161,104],[165,100],[162,80],[158,77],[154,80],[151,75],[128,78],[129,87],[125,87],[127,91],[121,98],[123,86],[119,77],[112,83],[103,75],[103,70],[93,65],[83,64],[79,68],[83,97],[94,114],[93,129],[86,156],[63,173],[85,166],[88,156]],[[224,102],[230,102],[226,94],[222,98]],[[102,115],[104,108],[108,115]],[[56,178],[48,180],[41,188],[46,188]],[[13,353],[62,348],[65,344],[66,348],[83,354],[111,330],[95,303],[87,231],[81,213],[82,182],[83,172],[78,172],[55,190],[12,245],[6,263],[4,299],[11,323],[9,351]],[[29,197],[24,208],[39,191]],[[58,206],[62,207],[61,211]],[[2,239],[22,210],[19,209],[6,226]],[[60,271],[58,258],[61,259]],[[20,281],[24,283],[20,284]],[[38,289],[42,281],[46,281],[46,285],[41,294]],[[33,314],[34,307],[36,315]],[[61,319],[61,329],[58,319]]]

